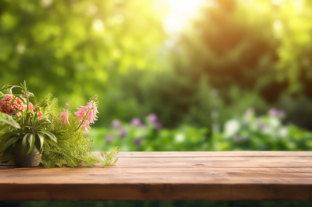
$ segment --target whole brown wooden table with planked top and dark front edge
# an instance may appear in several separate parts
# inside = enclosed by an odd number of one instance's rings
[[[116,166],[0,166],[0,200],[312,201],[312,151],[120,152]]]

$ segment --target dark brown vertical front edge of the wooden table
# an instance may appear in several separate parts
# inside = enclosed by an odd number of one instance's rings
[[[311,187],[305,185],[250,184],[63,184],[3,185],[0,193],[14,192],[6,200],[208,200],[208,201],[311,201]],[[18,189],[18,190],[16,190]],[[26,193],[25,193],[26,192]],[[31,193],[30,193],[31,192]],[[1,197],[2,198],[2,197]]]

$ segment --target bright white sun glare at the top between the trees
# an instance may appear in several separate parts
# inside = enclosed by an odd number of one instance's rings
[[[169,13],[164,19],[164,29],[167,33],[178,33],[186,24],[198,15],[204,0],[166,0]]]

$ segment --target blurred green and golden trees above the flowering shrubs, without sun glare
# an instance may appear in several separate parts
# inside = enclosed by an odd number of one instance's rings
[[[210,126],[214,89],[221,124],[249,106],[285,109],[281,95],[311,104],[312,5],[296,2],[212,0],[169,36],[162,1],[3,0],[0,81],[27,79],[62,105],[98,94],[98,126],[152,112],[169,128]]]

